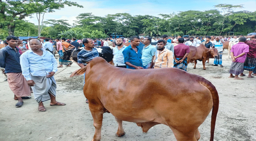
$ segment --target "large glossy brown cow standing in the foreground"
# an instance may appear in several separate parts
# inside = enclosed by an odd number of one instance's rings
[[[197,141],[198,127],[211,109],[213,141],[219,96],[214,85],[202,76],[177,68],[118,68],[101,57],[95,57],[70,77],[83,73],[83,93],[95,127],[92,141],[101,139],[105,112],[115,116],[118,137],[125,134],[122,121],[128,121],[135,122],[145,133],[154,125],[164,124],[171,128],[177,141]]]

